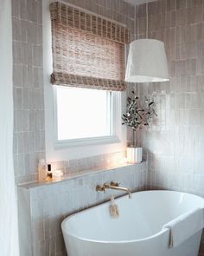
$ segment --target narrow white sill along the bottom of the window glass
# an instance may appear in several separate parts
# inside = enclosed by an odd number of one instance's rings
[[[96,144],[112,144],[120,142],[118,136],[101,136],[93,138],[83,138],[83,139],[74,139],[74,140],[65,140],[65,141],[55,141],[54,149],[61,148],[70,148],[86,145],[96,145]]]

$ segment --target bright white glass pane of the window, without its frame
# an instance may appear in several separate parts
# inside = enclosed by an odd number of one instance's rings
[[[58,87],[58,141],[112,135],[112,92]]]

